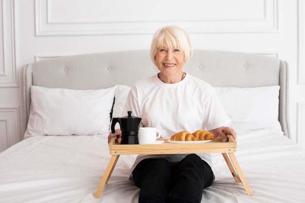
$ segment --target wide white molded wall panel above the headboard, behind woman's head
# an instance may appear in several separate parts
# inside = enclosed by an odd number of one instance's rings
[[[38,36],[153,34],[169,24],[189,33],[274,33],[277,13],[277,0],[35,0]]]

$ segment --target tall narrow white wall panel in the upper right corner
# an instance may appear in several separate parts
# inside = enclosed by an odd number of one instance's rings
[[[298,0],[298,84],[305,84],[305,3]]]

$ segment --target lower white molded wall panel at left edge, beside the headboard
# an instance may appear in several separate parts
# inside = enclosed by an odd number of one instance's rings
[[[0,122],[6,126],[7,148],[21,140],[19,106],[0,106]]]

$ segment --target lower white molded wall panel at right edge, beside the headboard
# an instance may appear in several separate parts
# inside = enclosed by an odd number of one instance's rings
[[[302,137],[305,135],[305,102],[297,102],[297,137],[296,142],[300,146],[304,146],[302,143]]]

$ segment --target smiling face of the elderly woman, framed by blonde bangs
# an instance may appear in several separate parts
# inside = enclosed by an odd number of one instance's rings
[[[165,44],[157,48],[155,62],[165,77],[181,76],[184,64],[184,52],[178,48],[167,47]]]

